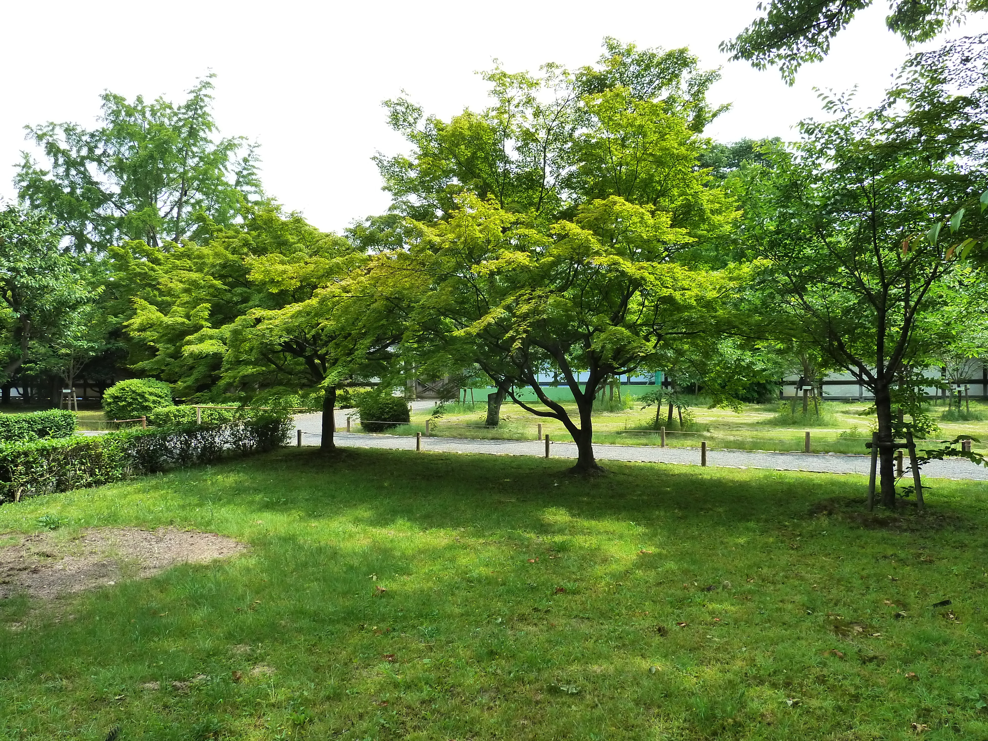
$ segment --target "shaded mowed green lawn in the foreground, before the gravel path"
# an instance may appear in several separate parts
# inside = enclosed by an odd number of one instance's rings
[[[251,545],[0,604],[0,738],[988,738],[984,484],[864,528],[813,514],[862,477],[566,465],[288,449],[0,507]]]

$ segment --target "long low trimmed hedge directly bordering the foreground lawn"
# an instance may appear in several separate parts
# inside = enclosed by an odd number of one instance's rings
[[[289,430],[287,417],[269,415],[0,445],[0,504],[211,463],[227,453],[265,453],[286,445]]]

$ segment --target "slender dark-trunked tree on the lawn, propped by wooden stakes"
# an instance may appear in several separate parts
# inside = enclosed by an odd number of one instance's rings
[[[902,89],[892,96],[901,100]],[[745,204],[748,244],[764,260],[761,288],[779,320],[874,395],[884,506],[895,503],[894,395],[929,357],[938,287],[963,229],[983,228],[974,218],[961,228],[956,217],[978,202],[983,159],[949,135],[956,117],[930,120],[924,101],[912,100],[905,111],[868,113],[830,101],[838,118],[803,123],[793,155],[780,151],[774,169],[752,171]],[[963,125],[978,111],[965,110]],[[958,232],[949,239],[945,219]]]

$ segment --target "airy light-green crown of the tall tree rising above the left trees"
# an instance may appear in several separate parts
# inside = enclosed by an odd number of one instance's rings
[[[157,247],[200,238],[204,213],[232,223],[260,195],[258,158],[243,137],[215,139],[212,78],[178,106],[104,93],[99,128],[28,126],[47,162],[24,154],[20,198],[52,214],[78,253],[103,254],[127,239]]]

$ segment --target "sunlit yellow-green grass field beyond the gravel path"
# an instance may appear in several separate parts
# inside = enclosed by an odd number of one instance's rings
[[[931,405],[930,414],[938,419],[941,432],[935,439],[952,439],[957,435],[971,435],[980,440],[974,450],[988,453],[988,404],[971,401],[971,410],[980,412],[984,421],[949,422],[940,420],[946,409]],[[535,405],[539,407],[540,405]],[[575,415],[572,404],[564,404]],[[781,407],[789,408],[788,403],[745,404],[740,412],[727,409],[707,409],[702,399],[695,400],[692,409],[697,432],[667,432],[667,445],[671,447],[697,447],[700,440],[707,441],[711,448],[730,448],[749,451],[803,451],[805,433],[810,433],[813,453],[866,453],[864,444],[871,439],[869,426],[871,416],[863,416],[867,403],[828,402],[826,404],[826,426],[815,424],[810,404],[810,416],[806,424],[773,424],[773,418]],[[483,404],[455,404],[437,422],[430,425],[430,434],[438,437],[535,440],[537,425],[542,424],[543,433],[553,440],[568,440],[569,434],[562,424],[555,420],[538,418],[513,403],[502,407],[502,423],[497,429],[483,428],[486,408]],[[425,422],[431,412],[417,410],[412,415],[412,424],[390,430],[389,434],[414,435],[425,432]],[[797,406],[797,416],[801,416],[801,406]],[[664,415],[663,415],[664,418]],[[609,445],[659,445],[658,435],[646,433],[655,422],[655,407],[642,409],[640,404],[615,412],[597,412],[594,415],[594,442]],[[360,432],[359,426],[353,428]]]

